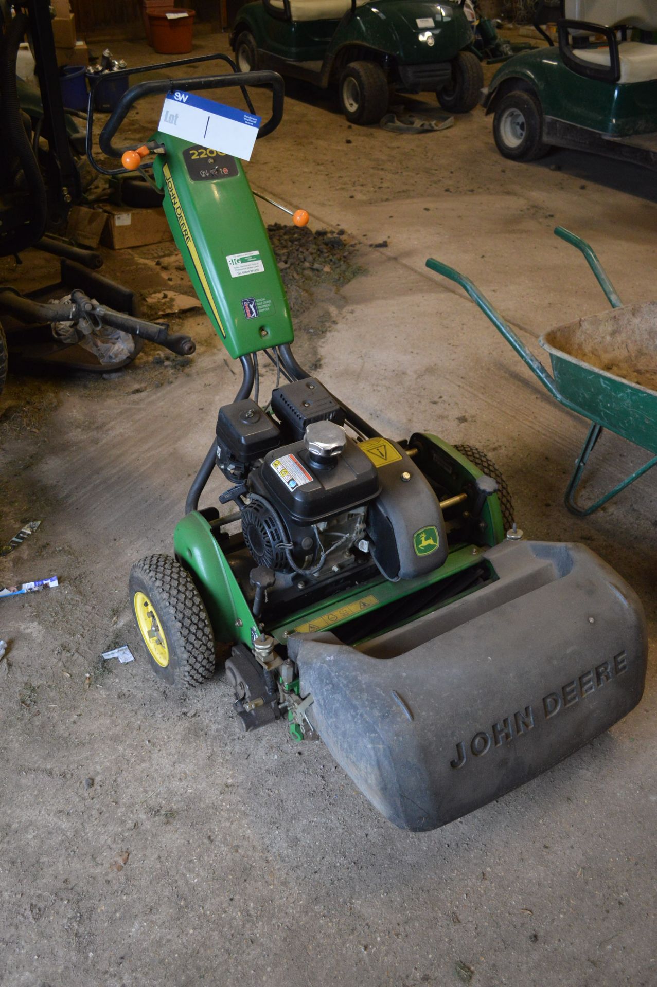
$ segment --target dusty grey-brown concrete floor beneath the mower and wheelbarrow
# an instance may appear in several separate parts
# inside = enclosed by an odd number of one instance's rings
[[[179,698],[147,667],[127,572],[169,551],[236,388],[204,320],[187,320],[189,366],[153,363],[150,349],[120,378],[14,377],[0,399],[3,544],[25,520],[43,524],[0,583],[56,573],[60,586],[0,602],[0,983],[656,984],[655,480],[589,520],[568,514],[585,423],[424,266],[468,273],[540,353],[542,331],[606,305],[557,223],[594,245],[622,298],[654,296],[654,178],[566,152],[506,163],[479,110],[401,137],[294,92],[250,178],[314,226],[345,228],[364,267],[324,292],[301,352],[383,434],[427,427],[486,449],[529,536],[581,540],[614,565],[650,623],[646,694],[515,793],[430,834],[397,831],[321,744],[299,746],[281,724],[244,735],[221,675]],[[117,256],[110,273],[122,264],[137,287],[157,273]],[[641,460],[607,437],[593,486]],[[220,489],[216,478],[205,502]],[[134,663],[103,665],[120,644]]]

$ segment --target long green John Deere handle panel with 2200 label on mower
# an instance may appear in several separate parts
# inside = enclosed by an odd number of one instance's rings
[[[164,211],[221,342],[233,358],[292,342],[283,281],[241,162],[159,131],[154,139],[166,149],[153,165]]]

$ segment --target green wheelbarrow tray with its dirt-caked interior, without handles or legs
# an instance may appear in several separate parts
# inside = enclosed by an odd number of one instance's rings
[[[623,305],[540,337],[561,396],[657,453],[657,303]]]

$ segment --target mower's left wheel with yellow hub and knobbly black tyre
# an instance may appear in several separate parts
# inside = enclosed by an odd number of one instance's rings
[[[153,671],[168,685],[202,685],[214,673],[214,636],[192,576],[171,556],[130,569],[132,613]]]

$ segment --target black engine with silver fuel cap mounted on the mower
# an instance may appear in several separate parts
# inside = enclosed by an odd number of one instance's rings
[[[440,504],[422,472],[397,443],[357,442],[344,421],[313,378],[275,390],[271,414],[251,399],[219,410],[217,465],[235,483],[221,499],[237,503],[269,585],[316,585],[368,563],[388,579],[412,578],[447,557]]]

